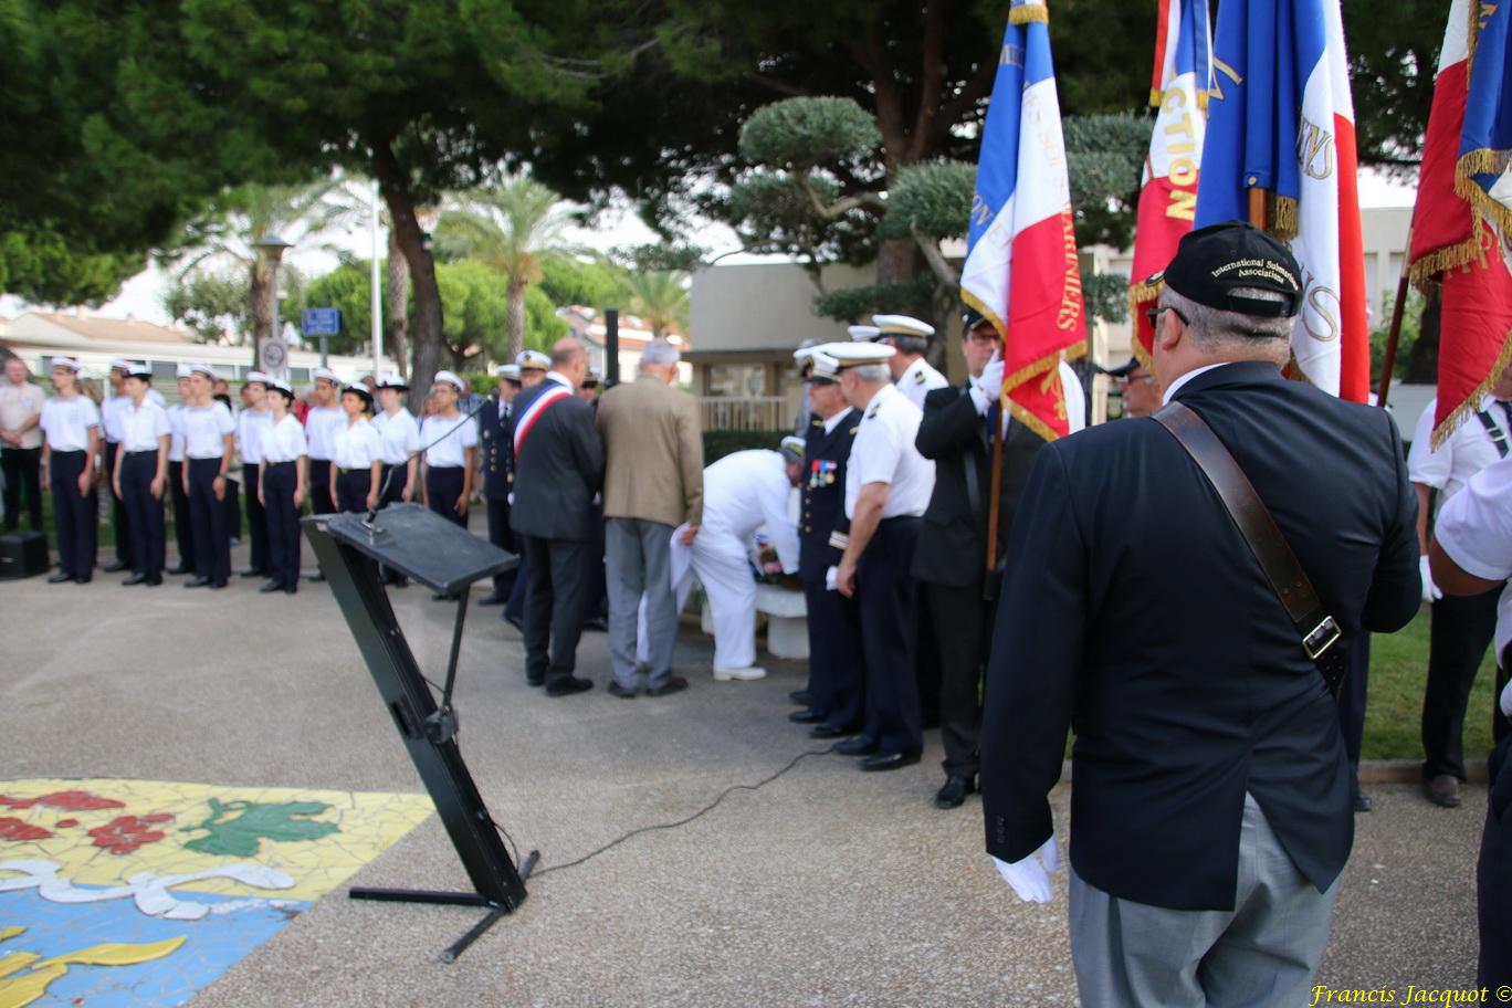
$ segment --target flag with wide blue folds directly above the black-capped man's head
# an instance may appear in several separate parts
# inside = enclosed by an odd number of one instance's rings
[[[1249,221],[1302,263],[1294,367],[1318,388],[1370,393],[1365,255],[1359,228],[1355,103],[1338,0],[1220,0],[1196,227]]]

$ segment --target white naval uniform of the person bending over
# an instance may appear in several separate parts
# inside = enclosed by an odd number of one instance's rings
[[[750,668],[756,662],[756,580],[747,559],[756,530],[765,526],[785,573],[798,570],[798,526],[788,511],[791,494],[780,452],[735,452],[703,470],[703,524],[692,549],[677,541],[682,529],[673,533],[677,609],[682,611],[697,577],[714,618],[715,669]],[[646,638],[643,632],[637,639]]]

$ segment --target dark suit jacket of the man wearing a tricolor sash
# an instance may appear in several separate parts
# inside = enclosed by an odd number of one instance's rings
[[[522,422],[531,404],[555,382],[522,390],[511,404]],[[575,396],[535,417],[514,459],[514,506],[510,526],[520,535],[587,543],[593,536],[593,496],[603,485],[603,441],[593,408]]]

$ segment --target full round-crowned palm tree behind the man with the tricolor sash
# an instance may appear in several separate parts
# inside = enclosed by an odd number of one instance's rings
[[[443,254],[460,254],[503,274],[510,360],[525,346],[525,289],[540,283],[544,263],[572,254],[564,240],[572,224],[572,212],[556,192],[517,174],[463,193],[458,207],[445,212],[435,227]]]

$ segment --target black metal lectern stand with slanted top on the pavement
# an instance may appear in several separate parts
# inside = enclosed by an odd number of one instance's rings
[[[531,851],[516,870],[457,748],[457,712],[452,709],[469,585],[479,577],[513,570],[520,561],[413,503],[376,514],[314,515],[304,520],[304,532],[475,890],[440,893],[354,887],[348,895],[352,899],[488,907],[488,916],[442,954],[442,961],[451,963],[525,901],[525,880],[540,860],[540,852]],[[440,704],[399,630],[378,577],[380,564],[448,598],[457,598],[457,623]]]

